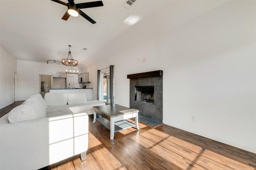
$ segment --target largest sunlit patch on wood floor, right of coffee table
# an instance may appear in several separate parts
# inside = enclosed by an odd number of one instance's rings
[[[221,170],[254,170],[254,168],[246,164],[242,164],[236,160],[232,160],[216,152],[206,150],[202,147],[170,136],[166,133],[160,133],[156,129],[149,129],[147,132],[140,133],[140,138],[131,138],[134,141],[137,141],[140,145],[152,150],[152,152],[158,154],[163,159],[172,162],[182,169],[214,168]]]

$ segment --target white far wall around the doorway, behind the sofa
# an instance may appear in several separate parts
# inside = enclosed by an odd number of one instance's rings
[[[53,71],[66,72],[70,67],[61,64],[36,63],[30,61],[17,61],[18,72],[18,100],[26,100],[33,94],[40,93],[39,75],[52,75]],[[78,72],[80,70],[76,68]]]

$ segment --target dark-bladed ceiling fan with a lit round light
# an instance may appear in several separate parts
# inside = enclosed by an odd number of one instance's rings
[[[102,1],[84,2],[80,4],[75,4],[74,0],[68,0],[68,3],[62,2],[60,0],[52,0],[52,1],[68,7],[68,10],[64,14],[64,16],[61,18],[62,20],[68,20],[70,16],[78,16],[78,14],[80,14],[82,17],[84,17],[86,20],[90,21],[91,23],[96,23],[96,21],[92,20],[92,18],[90,18],[80,9],[103,6]]]

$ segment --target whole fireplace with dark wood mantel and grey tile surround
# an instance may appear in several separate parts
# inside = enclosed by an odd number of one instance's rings
[[[163,71],[127,75],[130,78],[130,108],[139,115],[162,123]]]

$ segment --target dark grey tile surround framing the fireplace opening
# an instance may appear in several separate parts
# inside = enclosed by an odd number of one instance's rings
[[[160,75],[162,73],[161,70]],[[155,72],[159,72],[155,71]],[[146,72],[151,73],[151,72]],[[144,73],[138,73],[144,74]],[[130,108],[138,109],[139,116],[146,117],[148,119],[152,119],[154,121],[158,121],[162,123],[163,120],[163,76],[159,76],[156,74],[144,74],[142,78],[132,78],[130,74]],[[156,76],[155,76],[156,75]],[[148,77],[145,77],[148,76]],[[138,77],[138,76],[134,76]],[[148,104],[143,102],[135,101],[135,86],[154,86],[154,104]]]

